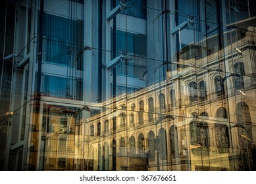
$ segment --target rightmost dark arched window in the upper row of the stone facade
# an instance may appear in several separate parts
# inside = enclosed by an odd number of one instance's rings
[[[234,64],[234,88],[236,90],[244,87],[243,76],[245,75],[244,67],[242,62],[236,62]]]

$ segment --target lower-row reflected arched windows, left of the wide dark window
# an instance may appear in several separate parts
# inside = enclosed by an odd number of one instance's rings
[[[178,149],[178,131],[175,125],[170,127],[170,155],[172,158],[179,157],[179,149]],[[166,131],[164,128],[159,129],[157,135],[153,131],[149,131],[147,133],[147,137],[144,137],[143,133],[138,135],[138,141],[132,135],[128,139],[128,143],[124,137],[120,137],[119,143],[116,143],[116,139],[112,141],[112,155],[115,157],[116,154],[120,156],[139,156],[139,157],[147,157],[150,162],[155,161],[156,152],[159,152],[159,158],[161,160],[167,159],[167,141],[166,141]],[[128,148],[126,148],[128,147]],[[126,153],[126,149],[128,149]],[[147,150],[148,154],[145,154],[145,150]],[[93,147],[90,147],[90,158],[93,159]],[[107,142],[98,145],[98,156],[99,160],[102,160],[101,157],[107,158],[109,157],[109,145]],[[115,160],[115,158],[113,158]],[[99,161],[101,162],[101,161]],[[104,161],[106,163],[106,161]],[[107,165],[109,166],[109,160],[107,161]],[[103,164],[103,170],[105,168],[105,164]]]

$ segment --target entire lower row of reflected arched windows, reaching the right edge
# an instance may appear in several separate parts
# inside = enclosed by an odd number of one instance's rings
[[[246,125],[246,127],[242,128],[246,130],[245,133],[247,137],[251,139],[251,117],[249,114],[249,107],[246,103],[241,102],[237,104],[236,110],[238,111],[238,122],[240,122],[240,124],[243,122],[243,124]],[[196,113],[192,113],[192,116],[194,119],[190,122],[190,145],[210,147],[211,143],[208,123],[203,120],[199,121]],[[208,116],[208,113],[202,112],[200,116]],[[218,120],[227,119],[228,113],[226,108],[218,108],[216,118],[218,118]],[[213,141],[213,139],[215,139],[215,145],[219,150],[228,151],[228,148],[230,147],[230,129],[224,122],[226,122],[226,120],[216,122],[214,124],[215,131],[211,131],[211,133],[215,133],[215,135],[211,136],[211,140]],[[238,124],[232,127],[238,126],[240,125]],[[169,139],[168,141],[167,138]],[[147,133],[147,137],[145,137],[143,133],[140,133],[138,137],[131,135],[128,138],[128,142],[126,142],[124,137],[120,137],[118,140],[113,139],[111,142],[111,148],[109,148],[109,144],[107,142],[103,143],[103,145],[99,143],[97,154],[99,166],[101,167],[101,170],[109,169],[110,154],[112,154],[111,164],[113,165],[113,170],[115,170],[116,167],[117,155],[147,157],[149,162],[155,161],[157,153],[159,154],[160,160],[166,160],[168,154],[171,159],[180,158],[180,141],[178,139],[178,127],[176,125],[172,125],[170,126],[168,137],[166,135],[165,128],[162,127],[157,131],[157,134],[155,134],[154,131],[149,131]],[[145,152],[147,152],[147,154],[145,154]],[[90,147],[90,155],[90,158],[93,159],[93,147]]]

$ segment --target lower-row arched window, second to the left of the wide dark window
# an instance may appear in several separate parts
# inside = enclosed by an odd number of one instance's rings
[[[160,159],[166,160],[166,158],[167,158],[167,142],[166,142],[166,131],[164,128],[159,129],[158,136],[159,136],[159,142],[157,144],[159,145]]]

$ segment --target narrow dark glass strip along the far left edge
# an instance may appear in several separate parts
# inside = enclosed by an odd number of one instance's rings
[[[12,70],[13,57],[9,56],[14,49],[14,17],[16,8],[14,5],[5,5],[1,3],[1,32],[0,32],[0,170],[4,169],[5,155],[8,150],[7,137],[9,136],[9,116],[11,108],[11,91],[12,91]],[[9,34],[7,34],[9,33]],[[6,59],[5,59],[6,58]],[[6,164],[7,165],[7,164]]]

